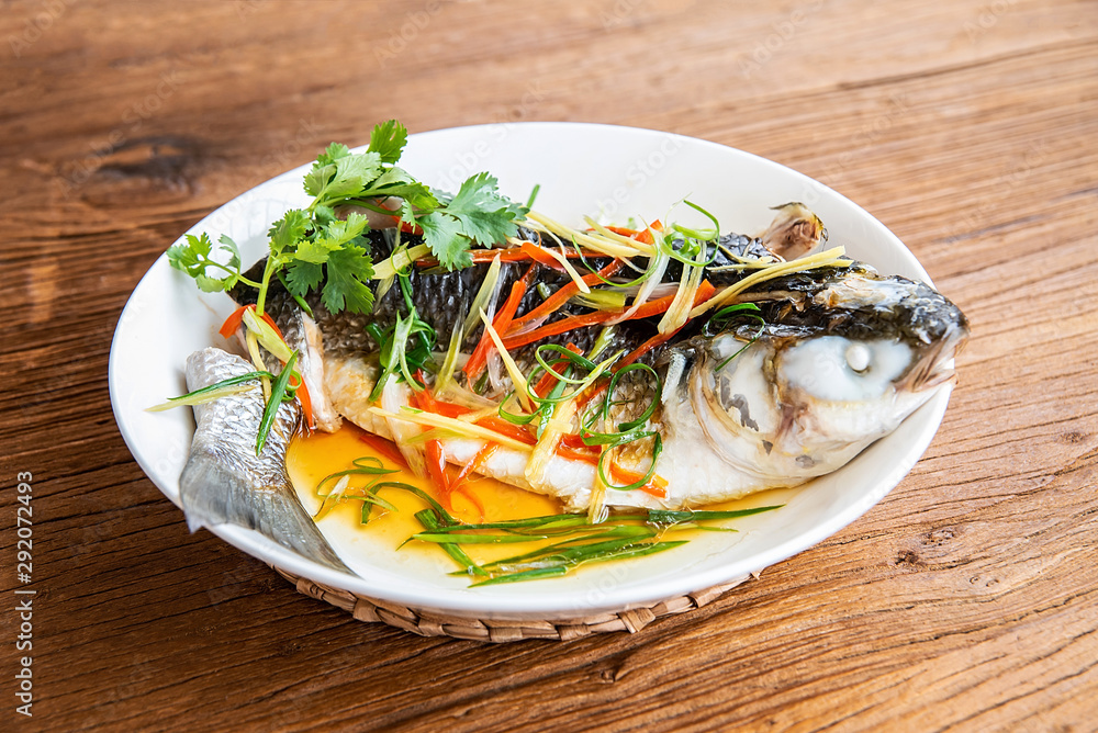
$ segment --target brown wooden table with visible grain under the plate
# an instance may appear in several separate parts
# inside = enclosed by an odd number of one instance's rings
[[[1098,725],[1098,4],[8,0],[0,40],[5,730]],[[841,191],[972,319],[938,438],[818,546],[570,643],[359,623],[189,534],[111,413],[126,297],[208,212],[389,117],[668,129]]]

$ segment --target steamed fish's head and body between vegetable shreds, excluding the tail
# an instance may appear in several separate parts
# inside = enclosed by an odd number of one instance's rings
[[[768,240],[726,235],[710,243],[714,259],[706,279],[718,289],[731,285],[746,274],[737,267],[743,260],[774,258],[774,249],[800,253],[810,249],[822,232],[818,219],[806,222],[800,216],[783,226],[775,224],[768,234]],[[535,233],[523,236],[537,239]],[[408,235],[403,237],[407,244]],[[391,253],[393,238],[392,230],[368,233],[376,262]],[[806,238],[811,241],[806,243]],[[607,261],[600,259],[592,264],[597,268]],[[261,266],[257,264],[254,273]],[[637,266],[643,269],[647,263],[641,260]],[[490,311],[500,306],[528,267],[528,262],[501,266]],[[534,281],[550,293],[571,282],[560,270],[533,267]],[[447,336],[469,316],[488,268],[475,264],[456,272],[413,269],[412,301],[418,316],[439,335],[440,351]],[[660,287],[674,292],[681,268],[672,261]],[[242,304],[255,301],[255,290],[243,285],[232,295]],[[545,296],[529,289],[516,318],[537,307]],[[405,441],[423,428],[394,417],[413,404],[413,391],[390,379],[380,399],[371,399],[381,373],[380,345],[368,335],[367,326],[374,323],[388,328],[408,315],[400,289],[393,286],[380,296],[369,316],[332,314],[318,297],[306,300],[312,316],[274,283],[266,311],[279,324],[289,346],[302,354],[317,427],[334,430],[346,418],[369,432],[394,439],[410,464],[422,466],[422,449]],[[765,325],[732,319],[718,326],[707,317],[692,320],[641,357],[659,374],[659,382],[634,372],[610,396],[613,419],[618,424],[637,419],[645,405],[656,402],[643,427],[659,435],[662,442],[654,465],[654,474],[665,483],[660,492],[603,488],[592,462],[557,453],[531,471],[530,451],[506,446],[479,461],[479,472],[556,496],[573,511],[590,509],[593,503],[677,509],[796,486],[841,467],[892,432],[953,379],[953,356],[967,338],[964,315],[940,293],[905,278],[881,275],[858,262],[771,279],[749,289],[739,300],[755,303]],[[585,306],[570,303],[548,323],[584,312]],[[603,354],[628,352],[645,343],[656,332],[658,320],[650,317],[618,324]],[[463,358],[483,331],[482,326],[469,330],[461,343]],[[602,332],[602,326],[578,328],[516,348],[512,356],[529,374],[540,343],[572,343],[587,353]],[[271,370],[277,369],[277,361],[272,362]],[[461,385],[467,397],[474,397],[474,404],[497,404],[512,391],[509,377],[497,364],[490,364],[485,379],[477,394],[475,385]],[[430,388],[429,376],[427,382]],[[580,431],[579,419],[572,418],[569,431]],[[645,474],[652,464],[654,442],[648,437],[621,447],[614,459],[616,466],[627,475]],[[439,446],[445,460],[466,465],[478,456],[485,441],[444,436]]]

